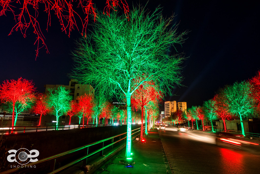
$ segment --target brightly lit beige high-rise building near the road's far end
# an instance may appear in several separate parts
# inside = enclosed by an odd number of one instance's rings
[[[164,111],[165,117],[170,117],[173,112],[177,110],[184,111],[187,109],[186,102],[176,102],[176,101],[165,101],[164,102]]]

